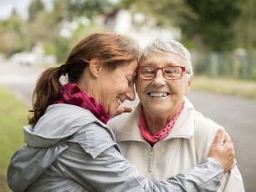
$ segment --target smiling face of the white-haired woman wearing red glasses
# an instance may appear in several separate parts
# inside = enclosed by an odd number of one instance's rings
[[[154,53],[141,58],[139,66],[184,66],[183,58],[176,53]],[[185,66],[184,66],[185,67]],[[137,78],[136,89],[143,105],[145,114],[151,116],[169,116],[172,118],[182,106],[182,98],[189,92],[185,72],[182,78],[167,80],[162,71],[158,70],[151,80]]]

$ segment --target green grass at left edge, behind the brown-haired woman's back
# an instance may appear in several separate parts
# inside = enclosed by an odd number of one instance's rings
[[[7,192],[6,172],[13,152],[23,145],[23,125],[28,124],[28,106],[8,89],[0,87],[0,191]]]

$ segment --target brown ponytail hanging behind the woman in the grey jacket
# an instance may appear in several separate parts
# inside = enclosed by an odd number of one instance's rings
[[[28,124],[36,124],[49,105],[54,104],[59,99],[62,88],[59,82],[63,70],[60,67],[47,68],[38,78],[36,88],[33,91],[33,109],[28,116]]]

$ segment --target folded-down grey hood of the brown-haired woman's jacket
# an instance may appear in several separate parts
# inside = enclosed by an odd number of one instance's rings
[[[110,128],[96,119],[89,110],[72,104],[53,104],[49,106],[35,126],[23,127],[24,141],[33,147],[49,147],[62,139],[68,139],[79,129],[93,123],[105,128],[115,141]]]

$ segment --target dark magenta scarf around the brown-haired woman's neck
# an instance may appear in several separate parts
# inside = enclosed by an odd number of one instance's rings
[[[73,104],[90,110],[97,119],[107,124],[110,115],[105,112],[102,105],[98,104],[90,94],[85,93],[76,83],[66,83],[61,89],[59,100],[55,104]]]

